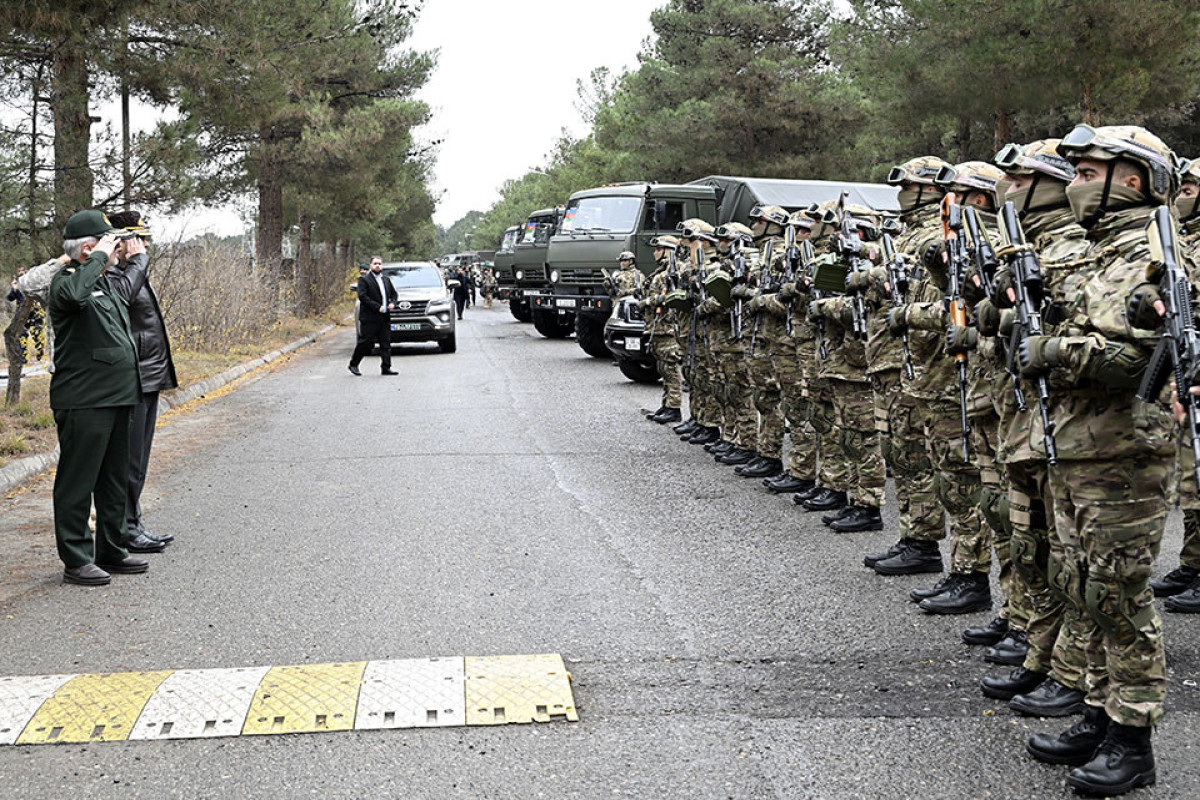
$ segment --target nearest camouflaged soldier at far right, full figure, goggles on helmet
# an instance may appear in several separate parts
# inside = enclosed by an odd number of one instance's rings
[[[1018,356],[1021,374],[1051,383],[1055,527],[1078,537],[1081,554],[1055,565],[1051,582],[1086,608],[1088,691],[1082,722],[1058,736],[1037,734],[1027,748],[1039,760],[1076,764],[1067,777],[1076,789],[1123,794],[1154,782],[1151,730],[1166,693],[1150,573],[1175,481],[1177,431],[1165,397],[1147,403],[1135,393],[1158,338],[1142,330],[1158,325],[1147,222],[1156,204],[1174,201],[1178,161],[1134,126],[1078,126],[1058,152],[1075,166],[1067,196],[1087,229],[1092,264],[1067,278],[1055,336],[1026,337]]]

